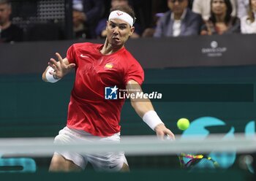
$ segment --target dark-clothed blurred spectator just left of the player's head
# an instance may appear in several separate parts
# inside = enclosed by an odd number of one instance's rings
[[[103,0],[73,0],[73,30],[76,38],[96,38],[95,28],[104,13]]]

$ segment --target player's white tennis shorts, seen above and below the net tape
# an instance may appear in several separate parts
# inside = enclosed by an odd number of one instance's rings
[[[89,139],[97,139],[100,142],[120,142],[120,133],[113,134],[112,136],[99,137],[87,133],[86,131],[80,131],[72,128],[67,128],[67,126],[61,131],[59,135],[55,137],[54,143],[74,143],[74,142],[89,142]],[[108,171],[117,172],[119,171],[123,164],[127,163],[127,159],[124,156],[124,152],[118,153],[100,153],[100,154],[78,154],[71,152],[56,152],[54,154],[59,154],[64,156],[67,160],[73,161],[80,168],[85,169],[87,163],[91,163],[96,171]]]

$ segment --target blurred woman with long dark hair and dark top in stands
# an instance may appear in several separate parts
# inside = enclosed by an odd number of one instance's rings
[[[239,18],[232,17],[230,0],[211,0],[211,17],[202,27],[202,35],[240,33]]]

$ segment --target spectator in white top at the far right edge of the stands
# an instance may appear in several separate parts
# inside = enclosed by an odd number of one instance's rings
[[[256,0],[249,0],[249,11],[246,16],[241,18],[241,33],[256,34]]]

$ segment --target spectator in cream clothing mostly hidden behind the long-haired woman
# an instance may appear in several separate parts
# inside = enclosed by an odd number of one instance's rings
[[[233,17],[236,17],[237,14],[236,1],[237,0],[230,0],[233,7],[233,11],[231,14]],[[211,0],[194,0],[192,5],[192,11],[202,15],[203,20],[208,20],[208,18],[210,18],[211,16]]]

